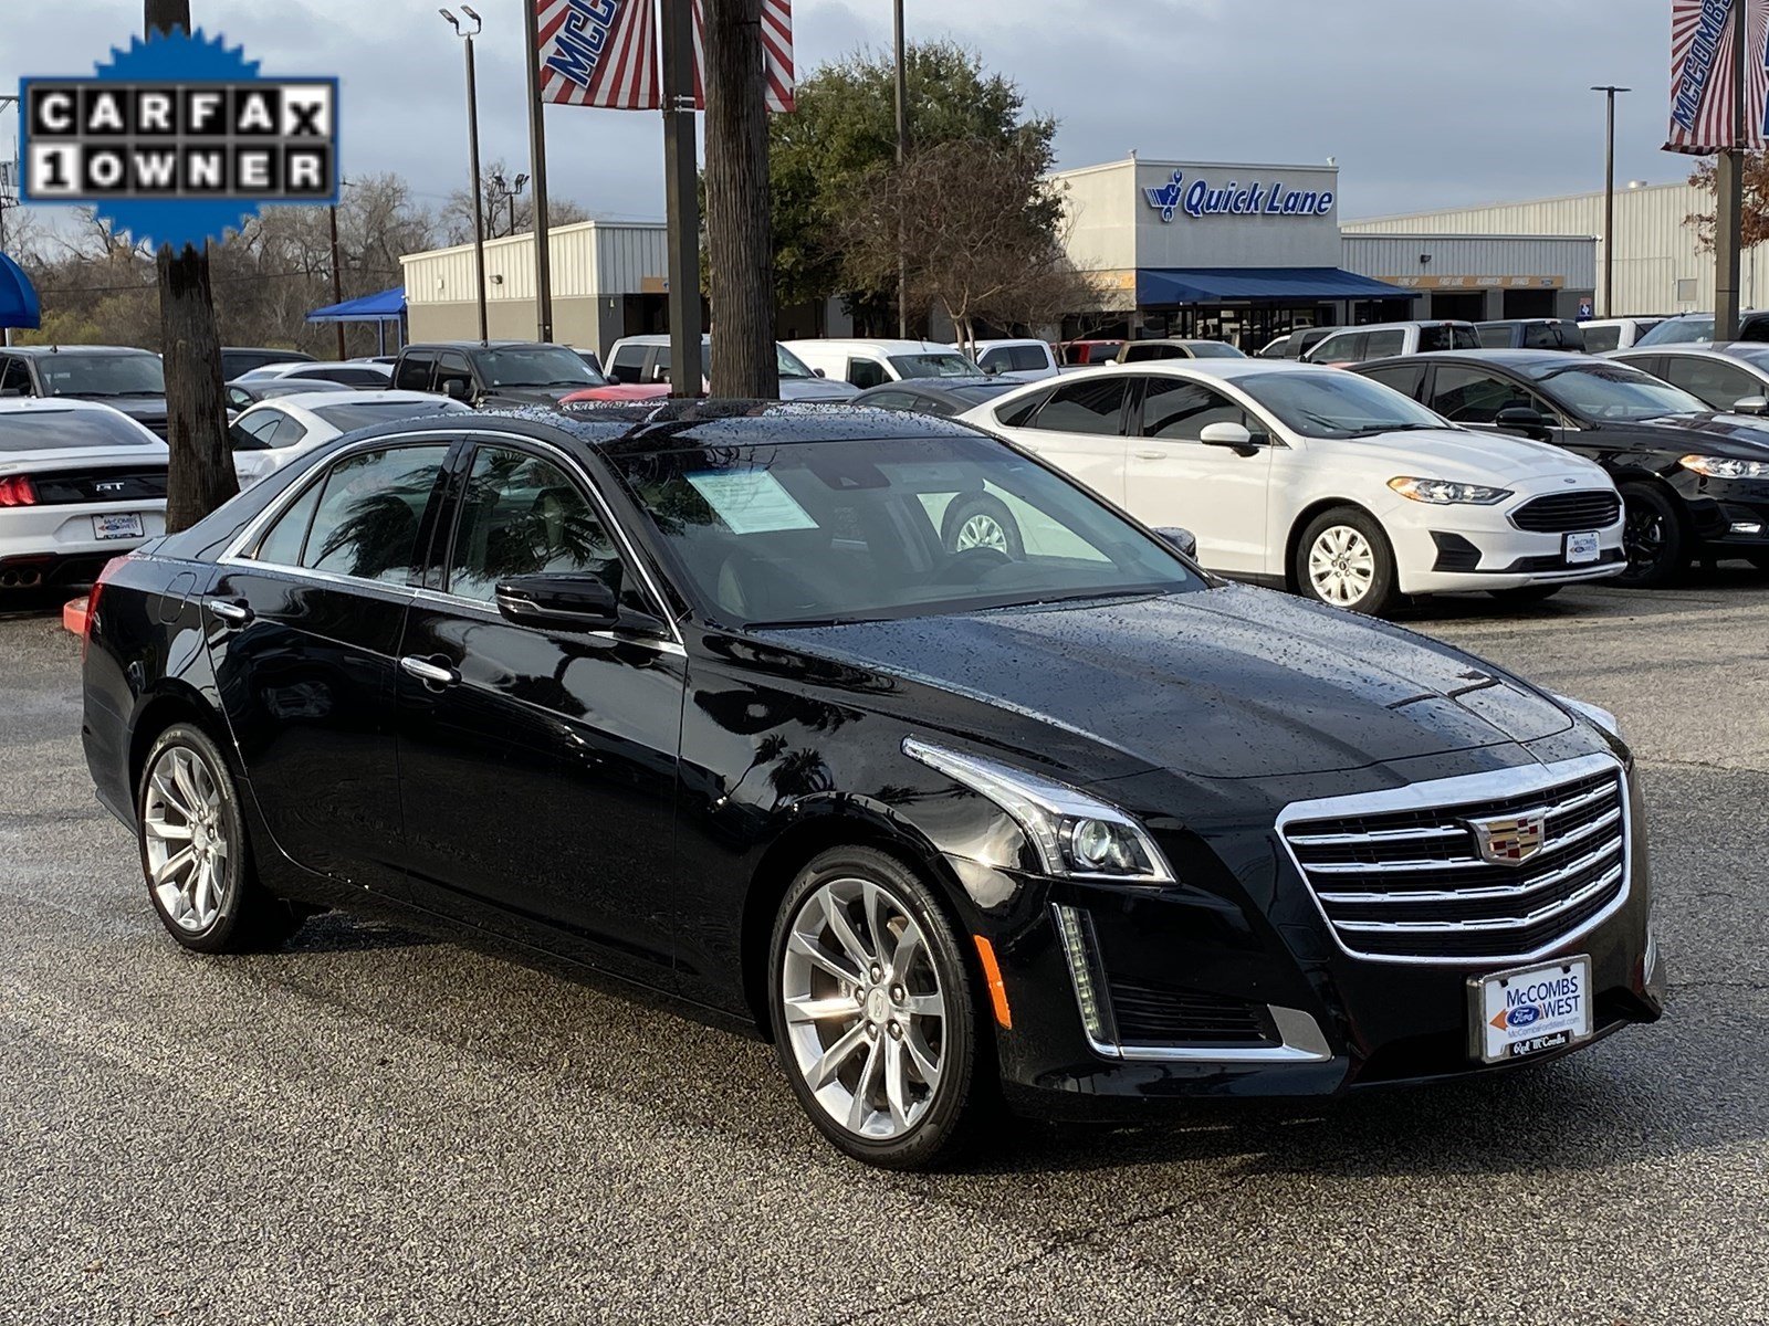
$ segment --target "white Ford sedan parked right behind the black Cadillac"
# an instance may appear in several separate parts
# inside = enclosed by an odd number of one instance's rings
[[[1622,502],[1560,447],[1456,428],[1336,368],[1160,361],[1065,375],[962,415],[1068,470],[1198,560],[1353,612],[1401,596],[1543,599],[1617,575]],[[991,493],[961,497],[953,546],[1024,546]],[[1035,537],[1035,532],[1033,532]]]

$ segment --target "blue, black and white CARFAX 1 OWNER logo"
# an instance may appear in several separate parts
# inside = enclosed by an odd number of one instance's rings
[[[156,249],[219,240],[264,203],[338,202],[338,80],[267,78],[202,32],[21,80],[19,118],[27,203],[92,207]]]

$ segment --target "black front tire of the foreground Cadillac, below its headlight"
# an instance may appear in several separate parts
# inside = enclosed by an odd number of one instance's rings
[[[826,983],[823,990],[808,990],[807,994],[824,1002],[837,999],[846,1002],[851,997],[854,1001],[854,1013],[819,1015],[823,1020],[817,1022],[805,1018],[789,1020],[787,1017],[784,987],[789,978],[796,976],[794,969],[789,969],[789,941],[794,937],[794,923],[801,926],[823,925],[819,918],[824,916],[824,911],[821,900],[814,895],[824,889],[824,886],[849,889],[856,882],[877,888],[883,891],[881,896],[888,898],[888,905],[893,911],[883,925],[884,930],[892,930],[899,919],[907,919],[920,932],[922,944],[916,946],[916,955],[907,958],[913,981],[906,976],[904,985],[909,987],[913,983],[913,988],[925,990],[929,974],[938,974],[936,992],[943,1001],[943,1015],[934,1018],[936,1025],[932,1031],[936,1034],[932,1038],[929,1036],[925,1018],[915,1024],[913,1029],[899,1034],[899,1013],[886,1002],[886,997],[897,999],[897,987],[893,983],[899,979],[899,974],[888,964],[895,956],[897,944],[907,937],[906,925],[893,930],[893,951],[884,955],[879,965],[883,976],[874,979],[870,972],[860,972],[865,978],[865,987],[856,987],[853,992],[833,972],[826,971],[823,964],[807,964],[805,958],[798,956],[800,949],[794,948],[793,962],[796,967],[821,976]],[[879,949],[870,946],[870,925],[865,903],[854,903],[858,911],[849,911],[842,903],[837,905],[842,907],[842,916],[849,918],[851,930],[862,948],[877,955]],[[805,911],[805,918],[800,918],[801,911]],[[817,948],[821,953],[835,956],[839,965],[851,965],[839,948],[821,942]],[[927,967],[922,967],[923,955],[929,964]],[[978,1123],[989,1114],[991,1101],[998,1094],[994,1041],[989,1036],[989,1029],[980,1022],[982,1004],[975,990],[976,985],[966,962],[961,937],[946,919],[945,909],[915,872],[895,857],[869,847],[831,849],[798,872],[793,886],[780,900],[768,949],[768,1011],[773,1024],[775,1050],[805,1114],[810,1116],[812,1123],[830,1142],[854,1160],[881,1169],[920,1170],[948,1163],[968,1149]],[[877,1010],[872,1008],[874,1002],[877,1002]],[[883,1020],[869,1022],[874,1015],[883,1015]],[[900,1017],[900,1027],[911,1027],[911,1015],[904,1011]],[[874,1027],[876,1034],[874,1031],[867,1031],[867,1027]],[[938,1063],[938,1073],[934,1073],[938,1080],[925,1094],[913,1098],[909,1110],[906,1110],[906,1126],[900,1126],[900,1132],[895,1135],[863,1135],[865,1128],[879,1114],[884,1116],[883,1128],[899,1128],[890,1109],[877,1110],[874,1107],[863,1110],[860,1132],[851,1128],[849,1121],[839,1121],[835,1110],[847,1109],[853,1100],[883,1096],[886,1093],[884,1073],[890,1071],[888,1061],[892,1054],[899,1055],[899,1063],[906,1064],[906,1071],[916,1071],[915,1068],[907,1068],[907,1064],[913,1064],[907,1043],[911,1038],[915,1038],[915,1043],[923,1052],[932,1050],[932,1059]],[[932,1048],[936,1040],[938,1048]],[[823,1084],[831,1093],[826,1103],[819,1100],[817,1091],[807,1080],[807,1073],[816,1063],[828,1059],[828,1052],[844,1041],[851,1043],[853,1048],[833,1061],[840,1071],[833,1073]],[[877,1077],[874,1077],[874,1052],[879,1059]],[[812,1063],[801,1063],[801,1054]],[[911,1091],[923,1087],[925,1077],[906,1080],[904,1098],[909,1098]],[[842,1096],[847,1098],[847,1103],[842,1101]],[[911,1110],[918,1112],[911,1117]],[[853,1119],[854,1114],[849,1112],[847,1117]]]

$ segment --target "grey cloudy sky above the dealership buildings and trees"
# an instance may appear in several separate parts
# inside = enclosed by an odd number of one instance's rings
[[[439,0],[193,0],[267,74],[343,78],[343,168],[400,171],[426,202],[465,179],[460,42]],[[486,161],[527,168],[520,0],[478,0]],[[888,48],[890,0],[796,0],[800,69]],[[1339,159],[1341,216],[1603,186],[1603,97],[1620,99],[1619,180],[1682,179],[1659,152],[1666,0],[907,0],[913,39],[953,37],[1058,117],[1061,164],[1123,157]],[[0,88],[81,74],[142,0],[0,0]],[[655,113],[554,108],[554,194],[663,210]],[[4,147],[4,141],[0,141]]]

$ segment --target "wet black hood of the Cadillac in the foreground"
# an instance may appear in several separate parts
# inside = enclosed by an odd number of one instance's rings
[[[1049,723],[1063,746],[1083,737],[1116,751],[1102,764],[1129,755],[1203,778],[1360,769],[1573,725],[1456,649],[1245,585],[768,636]]]

